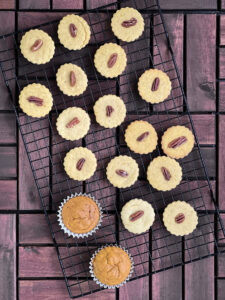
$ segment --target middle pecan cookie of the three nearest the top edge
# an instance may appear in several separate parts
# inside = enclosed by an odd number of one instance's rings
[[[72,32],[71,26],[75,26]],[[58,38],[60,43],[69,50],[80,50],[84,48],[88,44],[90,36],[90,27],[80,16],[67,15],[62,18],[59,23]]]

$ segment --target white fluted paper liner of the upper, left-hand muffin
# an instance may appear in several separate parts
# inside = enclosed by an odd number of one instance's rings
[[[93,201],[95,201],[95,203],[98,205],[98,208],[99,208],[99,221],[98,221],[98,224],[95,226],[95,228],[93,228],[91,231],[87,232],[87,233],[74,233],[72,232],[71,230],[69,230],[63,223],[63,220],[62,220],[62,208],[63,206],[65,205],[65,203],[70,200],[71,198],[75,198],[75,197],[78,197],[78,196],[86,196],[86,197],[89,197],[91,198]],[[75,194],[72,194],[71,196],[68,196],[66,199],[63,200],[63,202],[61,203],[60,207],[59,207],[59,210],[58,210],[58,213],[57,213],[57,217],[58,217],[58,222],[59,222],[59,225],[61,227],[61,229],[68,235],[68,236],[72,236],[72,237],[76,237],[76,238],[84,238],[84,237],[88,237],[90,235],[92,235],[93,233],[95,233],[99,227],[101,226],[101,223],[102,223],[102,208],[98,202],[98,200],[96,200],[93,196],[91,196],[90,194],[83,194],[83,193],[75,193]]]

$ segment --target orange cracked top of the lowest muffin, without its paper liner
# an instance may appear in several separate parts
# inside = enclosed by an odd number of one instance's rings
[[[129,255],[121,248],[108,246],[100,250],[93,259],[95,277],[108,286],[122,283],[131,271]]]

